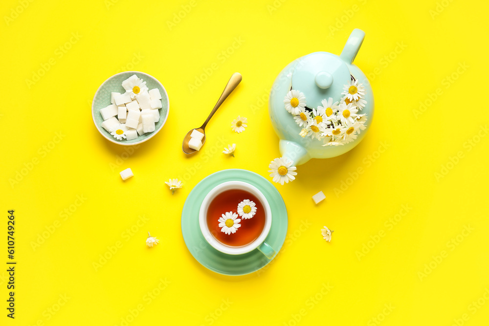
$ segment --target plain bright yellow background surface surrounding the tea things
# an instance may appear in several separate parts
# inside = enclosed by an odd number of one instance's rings
[[[1,268],[0,324],[486,325],[488,9],[447,0],[2,1],[1,209],[15,210],[18,264],[15,320],[6,317]],[[265,270],[206,270],[181,236],[185,198],[223,169],[270,180],[268,163],[280,155],[267,112],[272,82],[297,57],[339,54],[354,28],[366,32],[355,64],[376,100],[368,135],[276,185],[288,238]],[[123,70],[155,76],[170,98],[164,128],[132,154],[106,141],[90,113],[99,85]],[[235,71],[241,85],[209,123],[201,152],[186,157],[183,136]],[[32,85],[34,74],[43,76]],[[238,115],[249,121],[242,134],[230,129]],[[237,144],[235,158],[221,153],[218,137]],[[379,152],[381,142],[388,148]],[[190,172],[204,156],[208,163]],[[123,182],[128,167],[135,175]],[[186,172],[172,196],[164,181]],[[17,173],[25,175],[11,185]],[[350,185],[335,192],[342,182]],[[320,190],[327,198],[316,206]],[[390,227],[401,205],[411,209]],[[335,230],[331,243],[323,225]],[[145,245],[148,231],[161,240],[154,248]],[[148,300],[148,292],[158,295]]]

